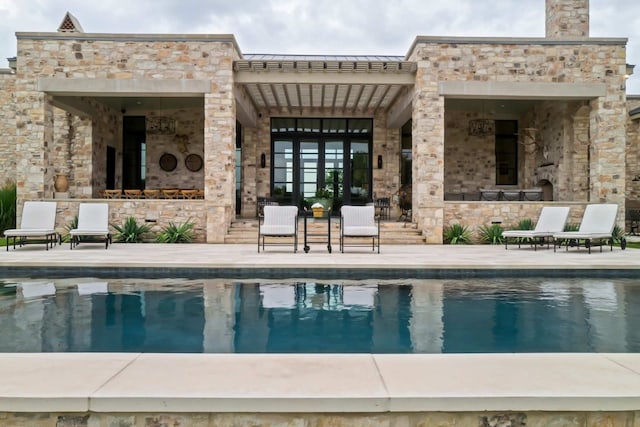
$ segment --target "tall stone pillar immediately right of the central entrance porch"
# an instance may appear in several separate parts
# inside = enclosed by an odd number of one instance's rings
[[[444,223],[444,97],[424,69],[416,73],[412,128],[413,221],[427,243],[442,243]]]

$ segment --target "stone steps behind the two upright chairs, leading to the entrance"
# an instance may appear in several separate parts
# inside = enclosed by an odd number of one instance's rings
[[[298,223],[298,243],[304,242],[304,220]],[[327,234],[326,220],[308,220],[307,234],[309,243],[322,241]],[[320,234],[321,236],[311,236]],[[340,221],[338,218],[331,220],[331,244],[338,245],[340,237]],[[285,241],[287,239],[284,239]],[[272,239],[271,241],[276,241]],[[254,218],[238,218],[231,223],[225,243],[258,244],[258,220]],[[424,245],[425,238],[418,231],[416,225],[410,222],[383,221],[380,223],[380,243],[382,245]],[[320,243],[315,243],[320,244]],[[325,243],[326,244],[326,243]]]

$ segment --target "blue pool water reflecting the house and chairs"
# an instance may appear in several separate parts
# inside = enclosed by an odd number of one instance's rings
[[[0,352],[640,352],[640,283],[0,282]]]

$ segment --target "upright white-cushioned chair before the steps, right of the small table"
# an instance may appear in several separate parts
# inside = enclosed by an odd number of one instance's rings
[[[362,243],[371,239],[371,248],[380,253],[380,216],[376,219],[375,206],[349,206],[340,208],[340,252],[345,246],[369,246]],[[345,244],[346,239],[355,239],[359,243]]]

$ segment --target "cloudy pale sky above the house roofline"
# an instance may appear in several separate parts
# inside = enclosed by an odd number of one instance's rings
[[[0,68],[16,32],[234,34],[243,53],[404,55],[417,35],[543,37],[545,0],[0,0]],[[626,37],[638,64],[640,1],[591,0],[591,37]]]

